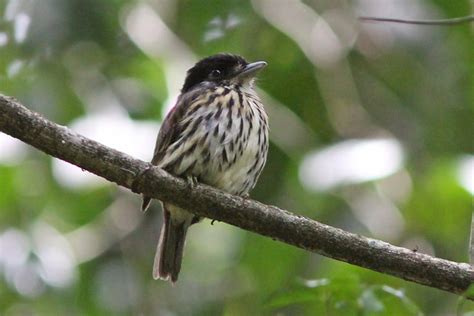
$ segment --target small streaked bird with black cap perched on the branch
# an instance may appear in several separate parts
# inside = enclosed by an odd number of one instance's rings
[[[151,163],[191,184],[248,197],[268,153],[269,126],[254,82],[264,61],[219,53],[187,71],[181,94],[162,122]],[[143,196],[142,210],[151,201]],[[153,278],[178,280],[186,233],[201,218],[162,203],[163,221]]]

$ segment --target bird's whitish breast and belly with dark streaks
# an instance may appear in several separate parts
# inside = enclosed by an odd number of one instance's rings
[[[268,123],[252,92],[220,87],[189,108],[181,144],[168,154],[171,161],[181,157],[172,173],[232,194],[253,188],[266,160]]]

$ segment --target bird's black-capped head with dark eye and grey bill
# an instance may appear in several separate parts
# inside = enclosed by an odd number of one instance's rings
[[[202,82],[217,84],[249,84],[257,72],[267,65],[264,61],[248,63],[244,58],[232,54],[217,54],[201,59],[188,70],[181,92],[187,92]]]

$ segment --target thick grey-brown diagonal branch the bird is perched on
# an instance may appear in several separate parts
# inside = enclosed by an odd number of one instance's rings
[[[0,131],[133,192],[308,251],[456,294],[474,283],[474,267],[467,263],[352,234],[206,185],[191,188],[182,179],[50,122],[2,95]]]

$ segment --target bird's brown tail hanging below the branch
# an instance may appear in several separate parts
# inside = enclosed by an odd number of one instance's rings
[[[181,270],[186,232],[192,217],[179,221],[173,218],[173,213],[169,211],[167,205],[163,205],[163,224],[153,265],[153,278],[170,279],[175,283]],[[181,216],[179,218],[181,219]]]

